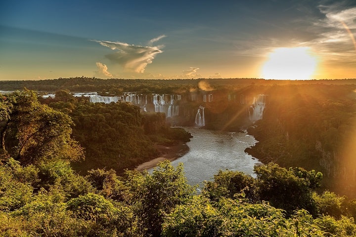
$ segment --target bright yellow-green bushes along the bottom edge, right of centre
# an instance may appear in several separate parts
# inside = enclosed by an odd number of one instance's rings
[[[165,217],[162,232],[167,237],[322,235],[312,216],[303,210],[287,219],[282,210],[266,202],[250,204],[223,198],[215,203],[203,196],[178,205]]]

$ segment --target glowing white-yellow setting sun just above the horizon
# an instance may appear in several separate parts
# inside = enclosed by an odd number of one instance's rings
[[[317,60],[310,47],[276,48],[262,68],[264,79],[308,80],[316,69]]]

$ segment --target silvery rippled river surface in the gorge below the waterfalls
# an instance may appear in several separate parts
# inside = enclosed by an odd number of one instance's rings
[[[172,164],[184,164],[185,176],[190,185],[202,186],[204,180],[212,180],[214,174],[225,169],[243,171],[254,176],[254,165],[260,162],[244,152],[257,142],[253,136],[192,127],[184,129],[193,136],[187,143],[190,151],[172,161]]]

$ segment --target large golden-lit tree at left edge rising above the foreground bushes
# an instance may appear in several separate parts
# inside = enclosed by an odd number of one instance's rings
[[[83,150],[70,137],[72,120],[67,115],[41,104],[34,91],[25,89],[8,98],[13,107],[2,126],[5,152],[22,164],[83,158]]]

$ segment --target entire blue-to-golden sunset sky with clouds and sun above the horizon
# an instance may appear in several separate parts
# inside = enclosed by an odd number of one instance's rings
[[[1,0],[0,80],[356,78],[356,0]]]

